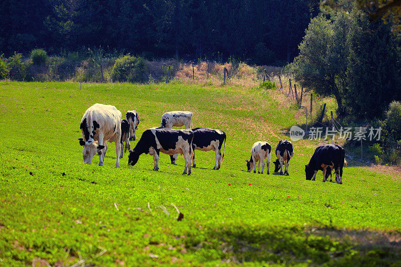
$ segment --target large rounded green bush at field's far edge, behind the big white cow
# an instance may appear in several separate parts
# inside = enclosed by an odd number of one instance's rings
[[[119,82],[147,81],[145,60],[141,57],[123,56],[116,60],[110,77]]]

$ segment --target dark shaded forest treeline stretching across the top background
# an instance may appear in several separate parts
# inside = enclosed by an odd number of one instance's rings
[[[102,47],[146,58],[284,64],[318,10],[313,0],[3,0],[0,54]]]

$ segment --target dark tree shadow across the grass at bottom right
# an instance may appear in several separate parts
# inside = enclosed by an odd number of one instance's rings
[[[397,265],[401,263],[401,234],[331,227],[255,227],[227,225],[200,237],[186,238],[186,247],[204,255],[204,261],[259,262],[308,265]]]

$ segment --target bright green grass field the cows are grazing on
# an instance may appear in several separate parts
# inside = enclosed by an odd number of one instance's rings
[[[277,92],[187,84],[0,81],[0,265],[393,265],[401,264],[400,180],[344,167],[343,184],[305,180],[317,143],[294,142],[289,176],[246,172],[255,141],[276,147],[301,123]],[[182,175],[160,154],[128,155],[114,168],[84,164],[78,138],[85,110],[135,109],[142,132],[170,110],[194,127],[227,133],[225,158],[195,151]],[[133,147],[137,141],[132,141]],[[272,155],[272,161],[276,159]],[[274,164],[273,168],[274,168]],[[178,221],[177,210],[184,217]]]

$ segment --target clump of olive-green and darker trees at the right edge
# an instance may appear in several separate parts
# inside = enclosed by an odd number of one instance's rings
[[[314,18],[289,66],[296,80],[322,96],[334,96],[339,114],[381,117],[401,99],[399,39],[383,22],[358,12]]]

